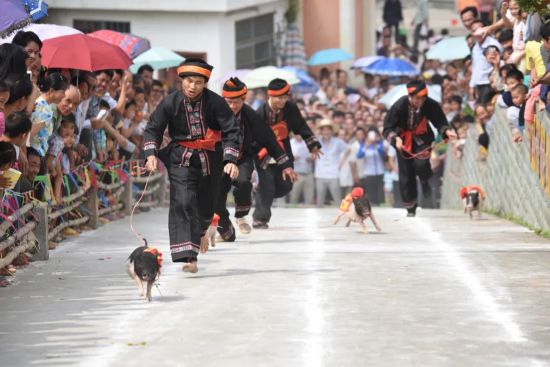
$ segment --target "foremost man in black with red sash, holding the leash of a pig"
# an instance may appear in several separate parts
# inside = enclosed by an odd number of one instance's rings
[[[182,91],[168,95],[151,114],[144,132],[145,168],[157,169],[157,153],[170,178],[168,227],[172,261],[196,273],[197,255],[208,249],[204,236],[214,215],[223,172],[232,179],[239,169],[239,125],[227,103],[206,88],[212,66],[188,58],[178,68]],[[168,127],[171,143],[162,150]]]

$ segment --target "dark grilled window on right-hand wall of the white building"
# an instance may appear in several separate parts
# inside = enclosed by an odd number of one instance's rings
[[[235,23],[237,69],[275,65],[273,13]]]

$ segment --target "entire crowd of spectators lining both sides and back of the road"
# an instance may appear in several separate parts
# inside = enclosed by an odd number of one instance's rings
[[[388,9],[397,9],[399,1],[388,3]],[[511,144],[521,143],[525,122],[534,111],[550,106],[550,24],[539,14],[522,11],[515,0],[503,2],[495,19],[478,7],[466,7],[460,18],[471,53],[442,63],[426,59],[425,51],[448,32],[423,36],[425,1],[418,6],[409,39],[398,31],[400,13],[384,15],[387,25],[378,34],[378,54],[411,61],[421,79],[441,90],[443,110],[460,137],[452,153],[460,156],[468,126],[474,124],[481,157],[486,156],[495,108],[506,109]],[[62,203],[71,190],[64,176],[77,167],[141,157],[148,117],[170,90],[153,79],[148,65],[134,75],[128,70],[46,70],[41,48],[32,32],[19,32],[12,43],[0,45],[0,190],[36,190],[36,178],[45,176],[51,182],[51,200]],[[325,154],[314,162],[301,138],[292,138],[300,176],[287,198],[292,204],[338,202],[360,185],[374,205],[400,206],[397,153],[381,134],[390,106],[380,99],[411,78],[363,74],[361,86],[354,88],[349,73],[361,72],[323,68],[315,75],[315,93],[294,95]],[[265,99],[264,90],[254,90],[247,103],[258,107]],[[425,207],[438,206],[437,187],[448,150],[440,140],[431,156],[435,190],[421,199]],[[4,174],[10,168],[21,172],[17,182]]]

